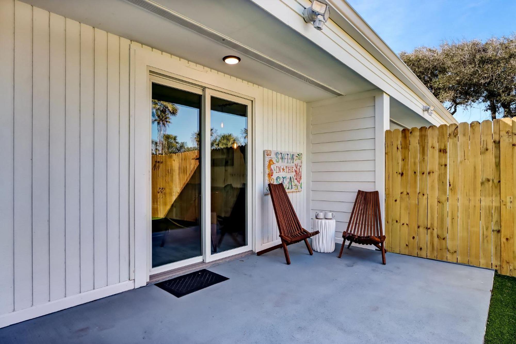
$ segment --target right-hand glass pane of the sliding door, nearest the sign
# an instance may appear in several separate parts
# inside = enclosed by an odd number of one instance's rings
[[[211,97],[211,251],[246,246],[247,105]]]

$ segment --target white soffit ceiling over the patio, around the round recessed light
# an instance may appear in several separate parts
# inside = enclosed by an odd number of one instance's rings
[[[342,62],[252,2],[157,1],[343,94],[375,88]],[[229,46],[124,0],[27,0],[27,3],[302,101],[335,97],[327,90],[280,73],[263,62],[242,56]],[[237,65],[229,66],[221,59],[225,55],[235,54],[242,58]]]

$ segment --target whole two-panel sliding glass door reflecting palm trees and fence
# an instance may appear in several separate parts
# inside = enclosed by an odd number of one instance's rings
[[[150,273],[250,249],[251,102],[157,76],[150,86]]]

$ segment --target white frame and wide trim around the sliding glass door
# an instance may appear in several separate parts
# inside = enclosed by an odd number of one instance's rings
[[[151,122],[150,122],[150,111],[151,111],[151,72],[154,75],[162,75],[165,79],[170,79],[172,83],[179,83],[183,87],[194,87],[204,89],[204,106],[203,115],[204,125],[201,130],[206,130],[206,124],[209,126],[209,111],[204,111],[206,105],[209,104],[209,97],[207,95],[216,95],[230,100],[237,100],[239,103],[248,102],[248,174],[247,174],[247,240],[248,244],[244,247],[231,249],[218,254],[211,254],[211,249],[206,250],[203,247],[203,257],[191,258],[192,261],[188,263],[199,262],[199,261],[212,261],[215,259],[224,258],[233,254],[249,251],[256,245],[255,243],[255,176],[254,176],[254,142],[252,136],[252,128],[255,121],[255,113],[257,102],[256,99],[261,99],[262,94],[260,89],[256,86],[251,86],[243,82],[238,82],[236,79],[229,78],[224,74],[218,74],[211,72],[209,69],[192,68],[192,65],[186,63],[184,60],[178,60],[170,57],[170,55],[162,55],[151,50],[147,50],[138,46],[137,44],[131,44],[131,101],[130,101],[130,113],[131,113],[131,150],[132,150],[132,167],[134,168],[134,198],[132,213],[134,215],[134,227],[131,233],[131,272],[135,280],[135,288],[144,286],[149,280],[149,232],[151,223],[151,188],[150,188],[150,159],[151,159]],[[196,66],[197,65],[193,65]],[[208,103],[206,103],[208,102]],[[206,109],[207,110],[207,109]],[[208,121],[206,121],[208,119]],[[209,130],[209,127],[208,127]],[[209,140],[208,140],[209,153]],[[204,159],[208,159],[209,156],[204,154]],[[201,158],[202,159],[202,158]],[[205,177],[209,177],[209,167],[204,164],[202,167],[203,180]],[[208,175],[206,176],[206,172]],[[202,185],[207,185],[203,183]],[[203,186],[204,187],[204,186]],[[203,190],[205,192],[205,190]],[[207,194],[209,195],[209,193]],[[203,197],[207,199],[209,197]],[[203,201],[201,207],[201,218],[204,224],[203,235],[205,232],[210,230],[210,226],[206,226],[211,221],[209,217],[209,200]],[[203,240],[204,243],[208,243],[208,240]],[[196,261],[193,261],[196,260]],[[185,264],[185,261],[178,262],[181,265]],[[175,263],[172,263],[175,264]],[[181,266],[179,265],[179,266]],[[173,269],[172,265],[168,265],[166,270]],[[157,270],[153,270],[152,273],[157,273]]]

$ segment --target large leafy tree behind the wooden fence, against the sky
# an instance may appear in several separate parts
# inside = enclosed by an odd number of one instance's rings
[[[443,42],[400,57],[451,114],[483,103],[492,119],[516,116],[516,35]]]

